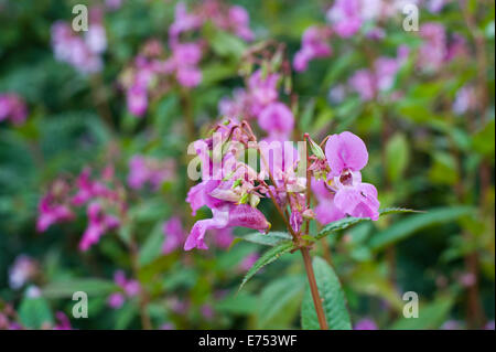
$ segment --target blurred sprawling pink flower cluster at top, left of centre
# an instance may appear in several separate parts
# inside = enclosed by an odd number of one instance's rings
[[[131,67],[126,70],[120,83],[126,90],[128,109],[137,117],[144,115],[150,96],[160,96],[174,83],[191,89],[202,82],[200,62],[207,43],[204,40],[185,41],[200,31],[207,21],[217,28],[230,31],[244,40],[251,40],[249,17],[238,6],[226,7],[209,0],[198,3],[188,12],[183,2],[175,8],[174,22],[169,28],[170,54],[165,54],[158,40],[150,40],[137,55]]]

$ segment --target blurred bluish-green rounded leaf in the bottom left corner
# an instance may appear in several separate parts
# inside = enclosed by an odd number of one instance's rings
[[[53,323],[52,310],[43,297],[25,297],[19,307],[19,318],[29,329],[40,329],[44,323]]]

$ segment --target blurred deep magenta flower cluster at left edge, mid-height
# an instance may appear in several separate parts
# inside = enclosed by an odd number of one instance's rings
[[[74,207],[86,206],[88,225],[79,242],[79,249],[87,250],[108,231],[120,225],[127,204],[126,192],[114,178],[114,168],[107,167],[100,180],[91,179],[86,168],[69,183],[58,179],[39,203],[36,228],[45,232],[51,225],[75,218]]]

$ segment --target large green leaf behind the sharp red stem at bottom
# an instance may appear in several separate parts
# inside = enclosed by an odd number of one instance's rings
[[[346,308],[346,297],[333,268],[324,259],[315,257],[313,270],[328,328],[331,330],[351,330],[352,320]],[[301,306],[301,326],[305,330],[320,329],[310,286],[306,287]]]

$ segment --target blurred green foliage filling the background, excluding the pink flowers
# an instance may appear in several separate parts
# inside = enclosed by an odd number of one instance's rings
[[[137,119],[127,111],[116,81],[144,41],[166,41],[175,3],[123,1],[120,9],[106,13],[104,71],[85,76],[54,58],[50,34],[56,20],[71,20],[72,7],[79,2],[85,1],[0,0],[0,93],[17,93],[29,107],[24,125],[0,122],[0,311],[12,305],[23,326],[42,328],[55,320],[56,311],[69,316],[72,294],[80,289],[89,295],[89,319],[71,319],[78,329],[139,329],[143,310],[155,329],[299,328],[305,277],[298,255],[266,267],[237,294],[244,274],[239,264],[260,250],[256,245],[160,252],[163,221],[179,214],[186,230],[193,223],[184,202],[185,146],[191,141],[186,113],[180,89],[172,89]],[[299,50],[303,31],[325,22],[331,4],[236,3],[248,10],[257,41],[283,42],[290,57]],[[475,29],[467,28],[466,11],[476,18]],[[428,211],[359,224],[314,249],[335,268],[354,322],[369,318],[381,329],[438,329],[446,321],[461,328],[494,321],[494,2],[468,1],[466,11],[449,2],[440,13],[421,12],[420,23],[439,22],[446,32],[466,38],[471,54],[433,74],[421,72],[410,58],[391,88],[402,93],[399,99],[362,102],[351,94],[335,103],[330,89],[368,67],[370,57],[395,55],[400,44],[418,49],[421,40],[401,29],[401,18],[385,24],[384,41],[363,35],[336,40],[333,56],[293,75],[298,130],[309,131],[315,140],[353,130],[368,146],[364,179],[376,184],[381,206]],[[202,34],[213,50],[202,61],[203,81],[191,94],[196,137],[218,117],[219,99],[242,85],[239,58],[248,46],[208,28]],[[467,84],[477,86],[478,94],[485,92],[485,105],[455,114],[453,102]],[[129,159],[136,153],[172,158],[179,167],[176,178],[158,192],[129,195],[129,224],[86,253],[77,250],[84,214],[75,223],[36,233],[37,202],[52,180],[111,162],[126,182]],[[130,233],[139,244],[134,268],[132,254],[121,245]],[[41,289],[40,297],[26,295],[29,285],[9,287],[9,268],[20,254],[37,262],[39,274],[31,284]],[[148,292],[144,302],[134,299],[120,309],[107,307],[108,295],[117,289],[112,281],[117,269],[140,281]],[[406,291],[419,294],[419,319],[401,318]],[[205,313],[206,307],[212,314]]]

